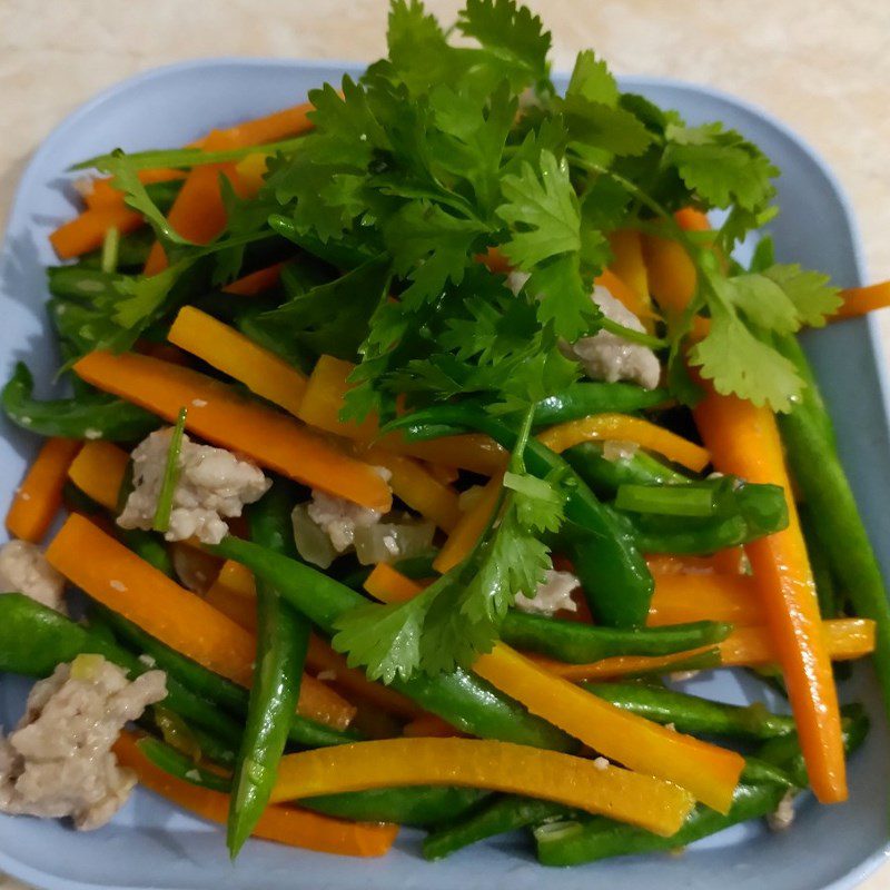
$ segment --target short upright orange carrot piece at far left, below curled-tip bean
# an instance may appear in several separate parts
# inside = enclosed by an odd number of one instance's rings
[[[13,537],[37,544],[43,540],[62,504],[68,467],[80,449],[73,438],[49,438],[41,446],[12,495],[7,530]]]

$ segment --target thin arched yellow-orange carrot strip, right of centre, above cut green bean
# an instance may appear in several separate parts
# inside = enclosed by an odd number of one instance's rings
[[[701,445],[627,414],[592,414],[580,421],[552,426],[538,434],[537,438],[555,452],[564,452],[573,445],[592,439],[635,442],[641,447],[657,452],[669,461],[696,473],[711,462],[710,453]]]

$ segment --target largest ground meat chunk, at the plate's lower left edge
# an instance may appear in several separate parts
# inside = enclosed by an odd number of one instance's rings
[[[136,784],[111,745],[125,723],[167,694],[166,674],[132,682],[101,655],[80,655],[34,684],[16,730],[0,739],[0,811],[71,817],[99,828]]]

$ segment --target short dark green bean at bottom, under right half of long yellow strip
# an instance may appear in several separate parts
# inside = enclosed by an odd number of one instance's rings
[[[501,797],[456,824],[445,825],[427,834],[424,838],[424,859],[444,859],[463,847],[486,838],[570,815],[571,811],[558,803],[533,798]]]

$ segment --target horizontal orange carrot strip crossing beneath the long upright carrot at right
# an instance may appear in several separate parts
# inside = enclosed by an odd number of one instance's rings
[[[852,661],[874,651],[874,622],[869,619],[831,619],[823,621],[820,633],[832,661]],[[615,676],[669,673],[690,660],[715,653],[712,668],[759,668],[775,664],[778,652],[767,627],[739,627],[715,647],[703,646],[672,655],[619,655],[590,664],[566,664],[543,655],[528,657],[547,671],[574,682]]]

